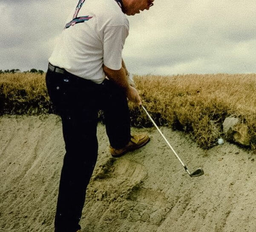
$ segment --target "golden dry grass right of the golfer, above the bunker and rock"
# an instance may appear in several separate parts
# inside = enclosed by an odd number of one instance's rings
[[[144,105],[158,124],[181,129],[199,146],[210,148],[221,135],[225,117],[239,117],[256,145],[256,74],[207,74],[136,77]],[[134,106],[132,111],[137,112]],[[148,122],[136,113],[135,125]],[[138,124],[137,124],[138,123]]]

